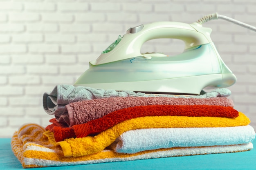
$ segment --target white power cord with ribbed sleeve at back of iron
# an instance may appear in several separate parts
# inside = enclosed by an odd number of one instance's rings
[[[232,22],[234,24],[237,24],[237,25],[240,25],[240,26],[243,26],[247,29],[250,29],[252,31],[256,31],[256,27],[255,26],[252,26],[252,25],[249,25],[249,24],[246,24],[244,22],[240,22],[238,20],[235,20],[233,18],[229,18],[225,15],[219,15],[218,13],[212,13],[212,14],[209,14],[209,15],[205,15],[204,17],[200,18],[197,23],[198,24],[204,24],[205,22],[209,21],[209,20],[217,20],[217,19],[222,19],[222,20],[226,20],[226,21],[229,21],[229,22]]]

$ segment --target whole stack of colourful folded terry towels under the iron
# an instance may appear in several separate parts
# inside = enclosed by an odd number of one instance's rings
[[[11,146],[24,168],[241,152],[255,132],[231,92],[198,96],[58,85],[43,95],[51,124],[26,124]]]

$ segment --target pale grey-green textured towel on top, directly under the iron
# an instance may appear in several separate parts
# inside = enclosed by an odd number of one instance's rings
[[[184,98],[211,98],[211,97],[229,97],[231,91],[227,88],[218,88],[209,93],[202,91],[202,95],[198,96],[177,96],[177,95],[147,95],[145,93],[135,93],[133,91],[114,91],[114,90],[103,90],[95,89],[84,86],[73,86],[73,85],[56,85],[51,92],[45,92],[43,94],[43,108],[49,115],[58,115],[62,113],[65,105],[78,102],[82,100],[100,99],[106,97],[184,97]]]

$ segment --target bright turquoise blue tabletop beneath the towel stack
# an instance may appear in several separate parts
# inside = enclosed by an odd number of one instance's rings
[[[23,169],[11,151],[11,139],[0,138],[0,169]],[[256,146],[256,140],[253,142]],[[256,170],[256,148],[247,152],[97,163],[29,170]]]

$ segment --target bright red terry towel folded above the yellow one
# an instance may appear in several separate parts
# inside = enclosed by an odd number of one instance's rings
[[[65,128],[65,125],[60,124],[56,119],[51,119],[53,124],[46,127],[46,130],[54,132],[56,141],[63,141],[70,137],[86,137],[88,135],[96,135],[99,132],[107,130],[116,124],[136,117],[145,116],[189,116],[189,117],[238,117],[238,111],[232,107],[225,106],[171,106],[171,105],[150,105],[150,106],[135,106],[116,110],[99,119],[88,121],[85,124],[74,125],[70,128]]]

